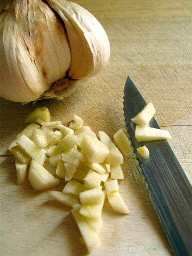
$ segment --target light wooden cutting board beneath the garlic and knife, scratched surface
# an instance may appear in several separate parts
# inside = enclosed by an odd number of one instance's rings
[[[119,128],[125,131],[123,87],[130,75],[146,102],[153,102],[155,117],[171,133],[170,144],[192,181],[191,1],[75,2],[105,28],[110,61],[102,73],[79,84],[63,101],[22,106],[1,98],[1,256],[87,254],[70,208],[50,200],[49,190],[33,190],[28,180],[17,186],[14,157],[7,146],[37,107],[47,106],[53,121],[64,125],[75,113],[93,131],[103,130],[112,138]],[[131,214],[113,212],[106,201],[101,244],[91,255],[171,255],[133,156],[125,158],[122,169],[120,193]],[[55,189],[63,187],[61,180]]]

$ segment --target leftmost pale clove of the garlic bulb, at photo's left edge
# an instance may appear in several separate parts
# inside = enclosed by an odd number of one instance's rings
[[[38,97],[38,93],[41,94],[44,85],[41,85],[38,80],[36,80],[36,74],[33,73],[30,82],[36,83],[37,89],[33,91],[32,88],[27,86],[20,68],[22,61],[26,61],[26,65],[23,64],[26,73],[33,72],[33,67],[31,62],[29,62],[28,56],[25,54],[25,49],[21,48],[21,40],[16,40],[18,33],[21,31],[17,29],[18,21],[14,17],[15,12],[12,8],[8,11],[4,11],[1,14],[1,37],[0,37],[0,56],[1,56],[1,97],[12,100],[12,101],[29,101],[34,100]],[[2,17],[3,16],[3,17]],[[14,29],[15,25],[15,29]],[[20,53],[22,57],[19,58]],[[21,62],[20,62],[21,59]],[[28,65],[28,67],[27,67]],[[30,67],[29,67],[30,66]],[[23,69],[22,68],[22,69]],[[29,71],[28,71],[29,69]],[[39,92],[40,90],[40,92]]]

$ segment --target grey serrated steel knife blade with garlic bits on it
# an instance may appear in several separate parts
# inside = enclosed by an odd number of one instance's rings
[[[131,121],[146,105],[130,76],[124,87],[123,110],[127,135],[132,142],[139,169],[153,206],[174,255],[192,255],[192,187],[167,140],[137,142]],[[160,129],[153,117],[150,127]],[[149,158],[137,148],[145,145]]]

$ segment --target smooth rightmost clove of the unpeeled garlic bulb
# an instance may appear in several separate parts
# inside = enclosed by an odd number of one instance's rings
[[[63,20],[71,48],[69,77],[81,79],[98,74],[107,65],[110,44],[99,21],[86,9],[65,0],[47,0]]]

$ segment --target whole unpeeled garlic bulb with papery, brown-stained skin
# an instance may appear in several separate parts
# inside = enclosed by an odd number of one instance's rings
[[[1,7],[1,97],[15,102],[69,96],[79,79],[103,70],[105,30],[65,0],[5,1]]]

